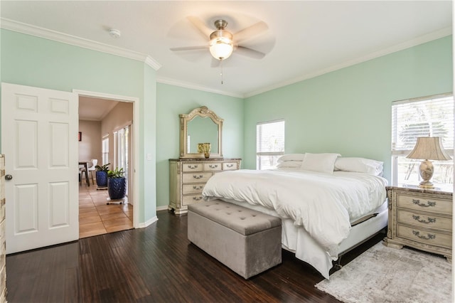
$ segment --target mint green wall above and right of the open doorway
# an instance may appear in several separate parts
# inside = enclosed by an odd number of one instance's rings
[[[139,223],[156,216],[155,166],[144,156],[155,151],[155,74],[137,60],[1,30],[1,80],[5,83],[139,98]]]

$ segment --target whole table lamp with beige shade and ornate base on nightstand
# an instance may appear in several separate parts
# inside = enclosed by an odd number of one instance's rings
[[[440,137],[418,137],[414,149],[406,158],[424,159],[419,166],[419,173],[422,177],[419,187],[422,188],[434,188],[430,181],[433,176],[434,166],[432,161],[429,160],[451,160],[451,157],[444,151]]]

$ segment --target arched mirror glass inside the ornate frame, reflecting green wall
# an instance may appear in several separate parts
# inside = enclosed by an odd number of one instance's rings
[[[210,143],[211,152],[218,154],[218,124],[210,117],[196,116],[187,124],[187,153],[196,154],[198,143]]]

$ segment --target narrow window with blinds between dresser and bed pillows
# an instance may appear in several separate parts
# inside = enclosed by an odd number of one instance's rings
[[[284,120],[256,125],[256,169],[274,169],[284,154]]]

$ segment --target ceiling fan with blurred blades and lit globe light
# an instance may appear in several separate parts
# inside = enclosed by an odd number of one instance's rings
[[[220,61],[229,58],[233,51],[239,53],[240,55],[246,55],[251,58],[264,58],[265,53],[240,45],[242,41],[252,38],[253,36],[258,35],[263,31],[267,31],[268,26],[263,21],[259,21],[252,26],[249,26],[242,29],[241,31],[238,31],[237,33],[232,34],[225,29],[226,26],[228,26],[228,22],[224,19],[217,19],[214,22],[216,28],[215,31],[205,26],[203,21],[200,21],[200,19],[197,17],[189,16],[188,20],[191,21],[191,23],[193,23],[196,28],[198,28],[200,34],[203,35],[205,39],[209,39],[208,44],[205,46],[170,48],[170,50],[201,50],[208,48],[213,58]]]

